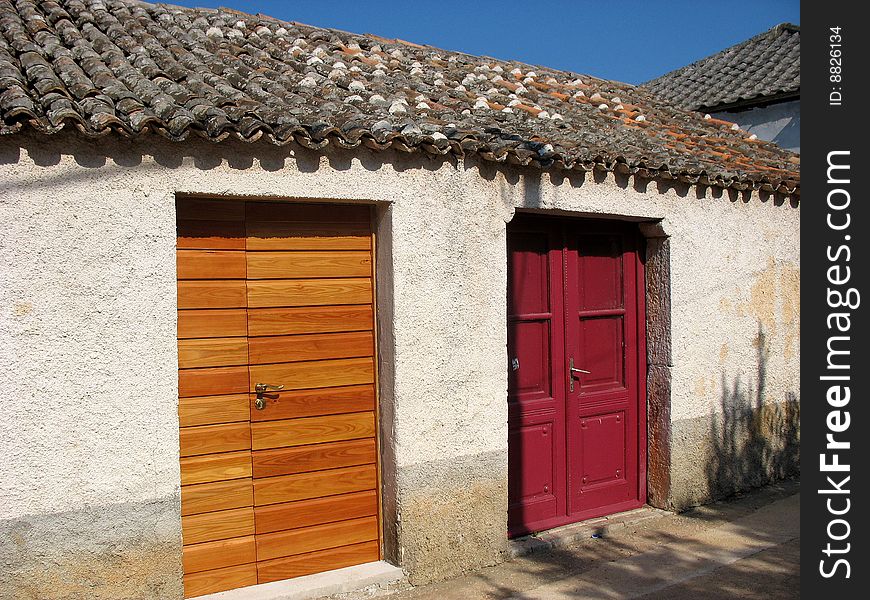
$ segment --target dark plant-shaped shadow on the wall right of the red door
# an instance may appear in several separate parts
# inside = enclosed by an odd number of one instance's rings
[[[754,390],[739,377],[730,384],[722,377],[722,411],[711,421],[711,456],[706,466],[713,498],[800,473],[800,401],[789,392],[785,402],[765,403],[770,349],[761,323],[756,349]]]

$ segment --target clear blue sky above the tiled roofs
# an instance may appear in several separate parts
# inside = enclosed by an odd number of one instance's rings
[[[169,0],[641,83],[765,31],[799,0]]]

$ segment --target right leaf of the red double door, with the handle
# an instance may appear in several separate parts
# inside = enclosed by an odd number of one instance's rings
[[[590,373],[568,392],[568,510],[640,506],[636,238],[615,224],[566,234],[566,352]]]

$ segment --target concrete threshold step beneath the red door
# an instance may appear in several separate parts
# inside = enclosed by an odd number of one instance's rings
[[[669,514],[671,513],[668,511],[653,508],[652,506],[642,506],[633,510],[607,515],[606,517],[579,521],[570,525],[563,525],[555,529],[548,529],[547,531],[513,539],[509,542],[508,551],[511,558],[516,558],[531,554],[532,552],[565,548],[566,546],[576,544],[580,540],[599,535],[605,536],[616,529],[630,527],[641,521],[656,519]]]

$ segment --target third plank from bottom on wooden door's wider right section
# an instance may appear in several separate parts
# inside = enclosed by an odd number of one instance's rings
[[[256,533],[309,527],[332,521],[358,519],[376,515],[378,494],[375,490],[286,502],[254,509]]]

